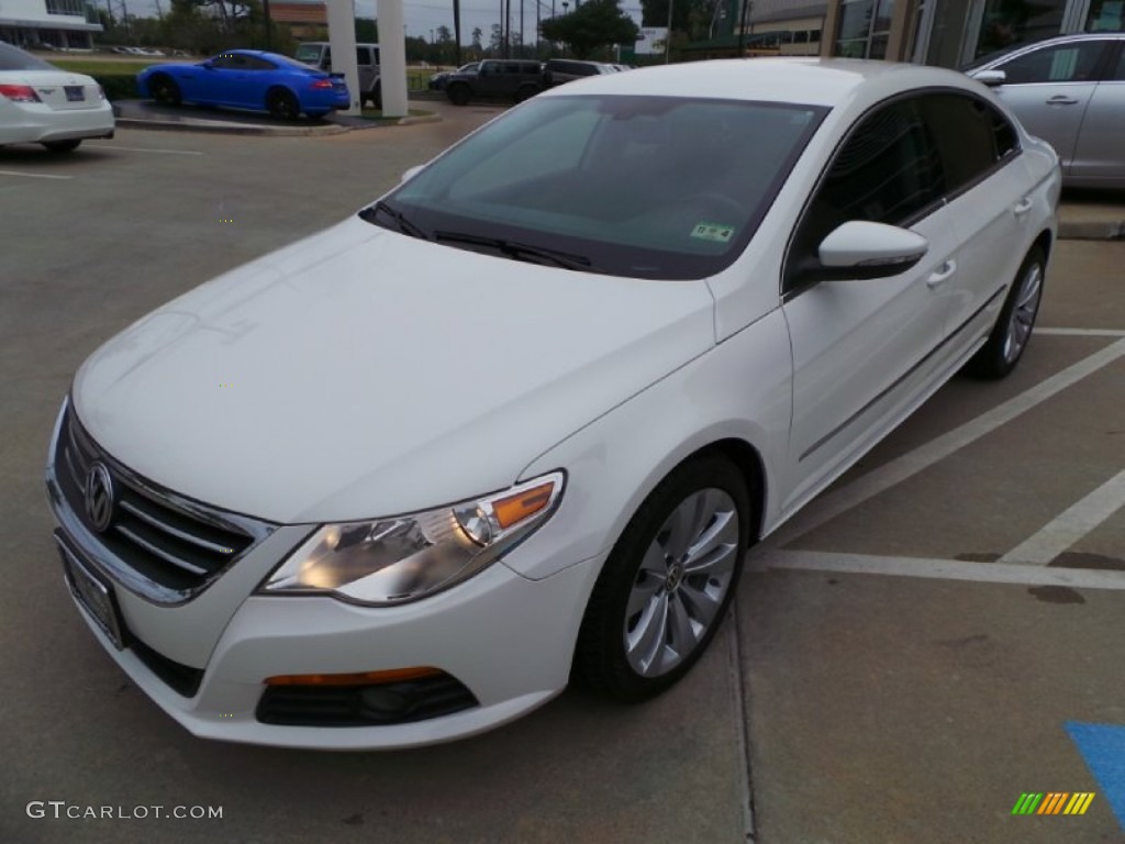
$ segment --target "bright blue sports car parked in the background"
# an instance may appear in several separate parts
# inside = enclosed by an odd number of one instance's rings
[[[351,101],[341,77],[260,50],[228,50],[196,64],[154,64],[137,74],[137,88],[168,106],[249,108],[287,120],[323,117]]]

